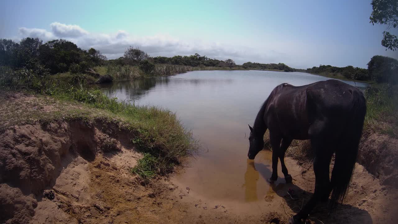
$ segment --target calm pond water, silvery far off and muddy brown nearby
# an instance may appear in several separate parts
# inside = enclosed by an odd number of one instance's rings
[[[265,181],[271,176],[271,152],[263,150],[254,161],[247,159],[248,124],[253,124],[260,105],[278,84],[299,86],[327,79],[298,72],[193,71],[100,87],[103,93],[119,100],[176,112],[205,149],[174,177],[176,181],[202,198],[245,203],[263,200],[273,191]],[[344,82],[366,87],[363,83]],[[284,183],[280,163],[278,174],[277,185]]]

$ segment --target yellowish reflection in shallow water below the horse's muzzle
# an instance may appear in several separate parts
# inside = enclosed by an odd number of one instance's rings
[[[254,166],[253,159],[247,159],[247,168],[245,173],[245,183],[242,187],[245,188],[245,201],[252,202],[257,201],[257,182],[259,179],[259,173]]]

